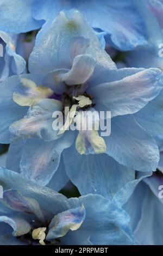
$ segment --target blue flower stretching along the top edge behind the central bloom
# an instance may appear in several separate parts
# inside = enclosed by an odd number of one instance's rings
[[[45,21],[51,22],[61,10],[76,8],[93,28],[108,33],[111,45],[131,50],[145,45],[148,39],[145,23],[135,7],[136,1],[4,0],[0,5],[0,29],[11,33],[32,31],[41,28]]]

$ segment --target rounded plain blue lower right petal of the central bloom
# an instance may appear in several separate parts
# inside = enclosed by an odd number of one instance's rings
[[[111,135],[104,137],[108,155],[134,170],[155,170],[159,162],[155,140],[136,123],[132,115],[111,120]]]

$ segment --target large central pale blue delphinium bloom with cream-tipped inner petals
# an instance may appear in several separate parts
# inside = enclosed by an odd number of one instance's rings
[[[128,173],[133,175],[129,168],[156,169],[156,142],[133,114],[162,89],[159,69],[117,70],[92,28],[77,10],[71,10],[62,11],[39,33],[29,70],[30,74],[9,77],[1,87],[1,142],[16,139],[10,145],[8,168],[41,185],[65,169],[80,193],[101,190],[107,180],[110,187],[108,167],[116,173],[114,180],[124,169],[125,179],[130,179]],[[111,135],[101,137],[95,131],[82,133],[68,127],[64,133],[54,131],[52,115],[65,106],[84,114],[89,109],[111,111]],[[68,113],[64,113],[67,118]],[[101,173],[99,179],[96,173]],[[84,179],[90,180],[88,186],[83,186]]]

